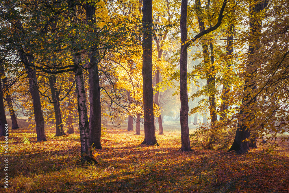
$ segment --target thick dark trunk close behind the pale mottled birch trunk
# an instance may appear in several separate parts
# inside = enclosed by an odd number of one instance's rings
[[[95,23],[95,6],[86,3],[86,21],[88,25]],[[96,149],[101,149],[101,104],[100,104],[100,85],[99,85],[99,56],[97,45],[89,53],[90,63],[88,70],[89,76],[89,102],[90,102],[90,145]]]

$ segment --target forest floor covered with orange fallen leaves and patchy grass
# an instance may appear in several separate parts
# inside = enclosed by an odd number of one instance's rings
[[[79,134],[46,130],[48,141],[38,143],[35,130],[10,129],[8,190],[0,137],[0,192],[289,192],[288,141],[277,141],[275,154],[258,146],[238,155],[201,147],[182,152],[178,130],[156,135],[160,146],[140,145],[143,130],[105,132],[103,148],[94,152],[99,163],[81,165]]]

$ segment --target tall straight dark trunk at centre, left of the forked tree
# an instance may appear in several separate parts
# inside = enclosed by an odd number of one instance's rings
[[[152,0],[144,0],[142,6],[142,78],[144,101],[144,141],[142,144],[154,145],[155,128],[153,122],[153,63],[152,63]]]

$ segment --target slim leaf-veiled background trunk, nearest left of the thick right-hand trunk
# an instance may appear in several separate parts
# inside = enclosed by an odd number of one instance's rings
[[[227,37],[227,46],[226,46],[226,54],[227,56],[230,56],[233,54],[233,39],[234,39],[234,24],[229,24],[229,33]],[[228,73],[224,74],[224,77],[229,76],[230,77],[230,68],[232,67],[232,62],[229,60],[228,62]],[[222,89],[222,96],[221,96],[221,116],[220,116],[220,121],[225,120],[227,117],[227,109],[228,109],[228,93],[230,91],[230,84],[229,82],[225,82],[223,84],[223,89]]]

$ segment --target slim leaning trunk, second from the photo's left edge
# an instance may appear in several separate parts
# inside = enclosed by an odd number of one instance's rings
[[[12,129],[18,129],[18,123],[17,123],[17,119],[16,119],[16,115],[14,112],[14,108],[13,108],[13,104],[12,104],[12,100],[11,100],[11,95],[8,91],[8,85],[7,85],[7,78],[3,78],[3,98],[5,98],[7,104],[8,104],[8,108],[9,108],[9,114],[11,117],[11,122],[12,122]],[[4,97],[6,95],[6,97]]]

